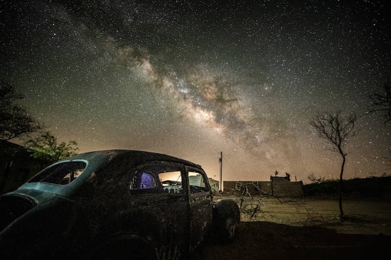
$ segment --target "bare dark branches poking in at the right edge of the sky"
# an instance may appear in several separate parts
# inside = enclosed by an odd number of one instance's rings
[[[384,117],[384,124],[391,121],[391,87],[390,79],[383,84],[383,93],[372,92],[369,95],[371,100],[369,105],[369,113],[379,113]]]

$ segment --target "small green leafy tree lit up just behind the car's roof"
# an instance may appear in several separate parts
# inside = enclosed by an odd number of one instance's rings
[[[77,154],[77,142],[58,143],[49,132],[28,140],[25,146],[31,149],[31,157],[37,160],[42,167],[46,167],[58,160]]]

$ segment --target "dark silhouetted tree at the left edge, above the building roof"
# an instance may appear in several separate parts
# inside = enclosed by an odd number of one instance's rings
[[[43,126],[33,118],[16,100],[22,100],[23,95],[15,87],[5,81],[0,82],[0,142],[34,133]]]

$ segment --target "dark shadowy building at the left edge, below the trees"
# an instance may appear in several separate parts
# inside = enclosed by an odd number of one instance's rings
[[[40,170],[27,148],[9,141],[0,142],[0,194],[16,190]]]

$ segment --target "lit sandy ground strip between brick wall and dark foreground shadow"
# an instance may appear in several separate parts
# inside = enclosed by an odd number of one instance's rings
[[[391,200],[387,197],[347,197],[347,218],[339,219],[338,200],[329,198],[244,198],[223,195],[241,204],[242,221],[268,221],[291,226],[321,226],[345,234],[391,235]]]

